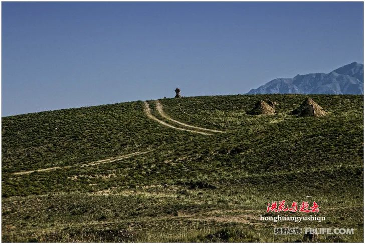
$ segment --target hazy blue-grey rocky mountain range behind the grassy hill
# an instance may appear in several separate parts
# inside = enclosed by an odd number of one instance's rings
[[[247,94],[363,94],[363,64],[353,62],[334,71],[269,81]]]

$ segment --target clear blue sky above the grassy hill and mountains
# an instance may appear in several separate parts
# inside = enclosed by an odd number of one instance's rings
[[[363,3],[2,3],[2,116],[363,63]]]

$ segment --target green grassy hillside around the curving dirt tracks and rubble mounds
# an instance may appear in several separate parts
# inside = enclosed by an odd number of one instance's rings
[[[2,240],[294,241],[273,228],[322,226],[355,231],[321,241],[362,241],[363,96],[310,97],[326,116],[289,115],[304,95],[159,100],[225,132],[210,135],[142,101],[3,117]],[[260,99],[276,114],[247,115]],[[326,220],[260,220],[280,200],[316,201]]]

